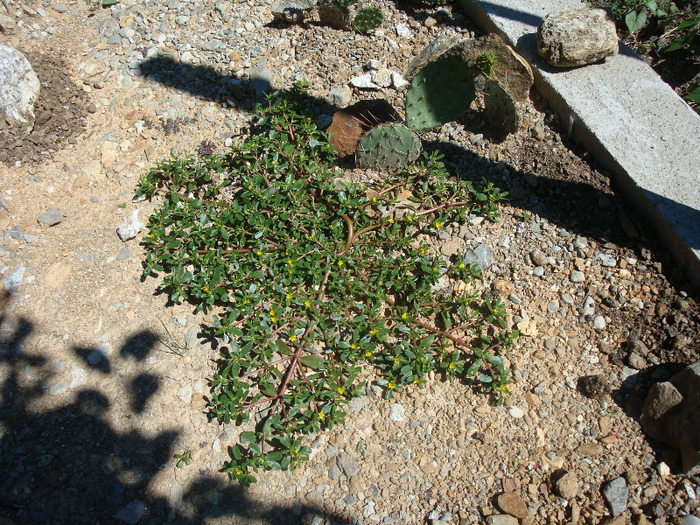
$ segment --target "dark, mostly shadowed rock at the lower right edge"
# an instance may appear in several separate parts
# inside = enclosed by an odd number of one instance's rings
[[[680,452],[685,474],[700,474],[700,361],[654,385],[640,420],[650,436]]]

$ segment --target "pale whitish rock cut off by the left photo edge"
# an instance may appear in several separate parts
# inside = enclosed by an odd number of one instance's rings
[[[0,114],[31,132],[40,90],[39,78],[25,56],[12,47],[0,46]]]

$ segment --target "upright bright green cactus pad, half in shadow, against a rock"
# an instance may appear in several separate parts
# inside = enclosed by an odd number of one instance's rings
[[[456,56],[421,69],[406,93],[406,124],[415,130],[436,128],[464,115],[474,100],[474,77]]]

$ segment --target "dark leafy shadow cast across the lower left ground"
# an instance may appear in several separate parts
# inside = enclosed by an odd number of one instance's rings
[[[114,428],[109,423],[112,400],[86,386],[64,393],[63,403],[47,408],[57,399],[48,387],[56,363],[42,357],[39,348],[27,349],[34,327],[12,314],[8,303],[8,296],[0,298],[0,517],[12,521],[2,523],[194,525],[220,518],[272,525],[306,523],[313,516],[336,524],[351,521],[300,502],[283,507],[254,501],[245,488],[207,476],[182,487],[181,494],[171,492],[171,503],[154,496],[159,472],[174,468],[173,454],[181,452],[178,430],[145,435]],[[121,356],[143,359],[156,341],[151,332],[135,334]],[[86,366],[105,377],[117,373],[117,363],[103,365],[110,357],[99,347],[75,352],[86,354]],[[134,420],[158,387],[154,376],[138,376],[126,385]]]

